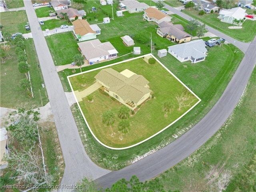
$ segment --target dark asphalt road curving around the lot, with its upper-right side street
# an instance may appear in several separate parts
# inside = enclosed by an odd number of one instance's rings
[[[188,20],[190,18],[170,6],[165,7],[183,18]],[[98,178],[96,182],[103,188],[111,187],[113,183],[121,178],[130,180],[132,175],[138,176],[140,181],[144,182],[168,170],[188,157],[211,138],[226,122],[236,107],[256,63],[256,37],[252,43],[243,43],[209,26],[207,26],[207,28],[213,34],[225,38],[228,42],[233,43],[245,52],[245,56],[226,87],[226,90],[210,112],[183,136],[134,164]]]

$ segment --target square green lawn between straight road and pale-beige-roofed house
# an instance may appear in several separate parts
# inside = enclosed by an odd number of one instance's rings
[[[78,45],[71,32],[58,33],[45,37],[52,59],[57,65],[66,65],[73,62],[75,54],[80,54]]]

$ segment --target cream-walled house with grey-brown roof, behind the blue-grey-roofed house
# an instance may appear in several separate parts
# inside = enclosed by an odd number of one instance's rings
[[[184,27],[181,24],[172,24],[170,22],[162,22],[158,24],[156,33],[161,37],[166,37],[168,40],[173,42],[189,42],[191,41],[192,35],[185,32]]]

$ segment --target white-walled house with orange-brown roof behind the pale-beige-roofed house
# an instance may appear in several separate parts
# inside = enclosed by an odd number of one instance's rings
[[[96,39],[96,32],[92,30],[86,20],[77,19],[72,24],[74,26],[73,33],[78,41]]]

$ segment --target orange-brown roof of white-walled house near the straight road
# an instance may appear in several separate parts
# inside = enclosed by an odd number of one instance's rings
[[[88,33],[96,33],[86,20],[77,19],[73,21],[72,24],[74,25],[74,32],[80,34],[81,37]]]

